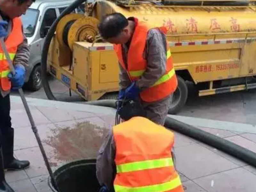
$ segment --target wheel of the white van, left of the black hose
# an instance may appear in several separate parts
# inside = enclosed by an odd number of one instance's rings
[[[28,82],[25,84],[25,88],[30,91],[37,91],[42,87],[41,67],[36,65],[30,74]]]

